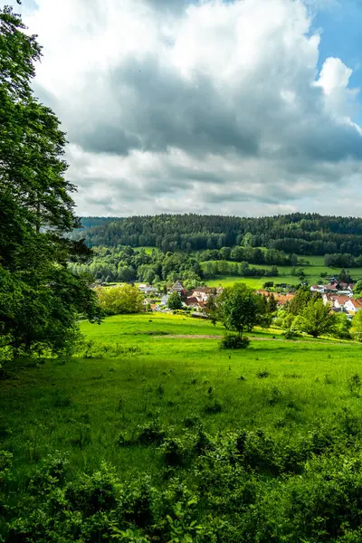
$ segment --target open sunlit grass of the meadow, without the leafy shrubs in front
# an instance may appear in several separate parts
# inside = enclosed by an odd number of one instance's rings
[[[141,467],[150,452],[118,449],[120,431],[132,434],[158,414],[180,433],[187,417],[205,410],[210,386],[212,397],[224,405],[220,414],[205,418],[212,432],[241,421],[277,432],[275,424],[291,402],[292,426],[299,429],[317,424],[341,401],[359,409],[359,398],[347,387],[360,370],[359,345],[272,340],[276,330],[257,331],[251,348],[230,355],[219,350],[217,339],[197,338],[221,335],[222,327],[166,314],[113,317],[100,326],[83,322],[81,329],[95,343],[119,344],[125,354],[74,358],[65,365],[47,361],[0,382],[0,435],[14,452],[20,479],[54,449],[70,451],[73,471],[96,467],[101,459],[123,474],[125,466]],[[175,337],[185,335],[195,338]],[[270,375],[260,379],[263,370]],[[282,400],[271,407],[266,401],[275,386]],[[151,457],[149,465],[157,471],[159,454],[152,451]]]

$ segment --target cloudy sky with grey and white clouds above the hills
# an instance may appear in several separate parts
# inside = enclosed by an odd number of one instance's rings
[[[9,2],[5,2],[9,4]],[[359,0],[24,0],[78,214],[362,216]]]

